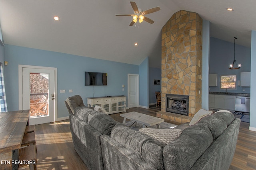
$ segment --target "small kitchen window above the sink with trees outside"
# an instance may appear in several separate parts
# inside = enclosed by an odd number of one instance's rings
[[[236,75],[220,76],[220,88],[236,89]]]

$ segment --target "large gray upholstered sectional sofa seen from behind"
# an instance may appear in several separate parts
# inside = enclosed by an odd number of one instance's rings
[[[228,111],[179,125],[180,137],[164,147],[156,139],[68,98],[74,148],[91,170],[227,170],[236,149],[240,119]]]

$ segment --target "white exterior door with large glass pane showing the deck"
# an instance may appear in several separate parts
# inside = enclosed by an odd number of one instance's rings
[[[55,70],[22,68],[22,109],[30,109],[29,125],[55,121]]]

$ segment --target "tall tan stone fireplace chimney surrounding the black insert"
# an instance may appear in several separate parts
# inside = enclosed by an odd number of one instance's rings
[[[185,121],[202,108],[201,64],[202,18],[194,12],[178,11],[162,28],[162,101],[157,117],[167,119],[175,112],[166,111],[168,94],[189,96]]]

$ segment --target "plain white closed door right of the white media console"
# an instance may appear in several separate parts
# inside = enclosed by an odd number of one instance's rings
[[[138,75],[128,74],[128,107],[138,107],[139,93],[138,93]]]

